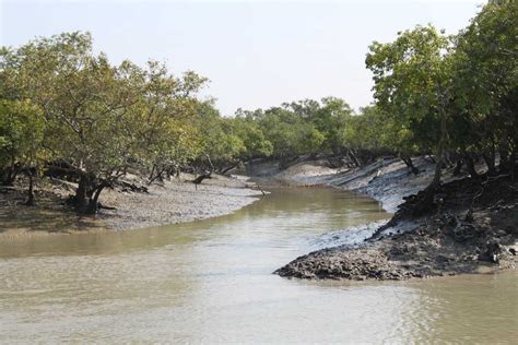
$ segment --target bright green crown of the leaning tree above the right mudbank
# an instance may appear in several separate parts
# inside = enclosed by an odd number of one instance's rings
[[[374,73],[377,106],[391,118],[400,151],[437,150],[446,120],[450,40],[433,26],[398,34],[393,43],[374,43],[366,66]]]

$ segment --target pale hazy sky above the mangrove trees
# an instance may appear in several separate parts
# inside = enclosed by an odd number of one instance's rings
[[[166,61],[211,80],[223,115],[303,98],[372,102],[373,40],[432,23],[464,27],[484,0],[131,1],[0,0],[0,44],[90,31],[113,62]]]

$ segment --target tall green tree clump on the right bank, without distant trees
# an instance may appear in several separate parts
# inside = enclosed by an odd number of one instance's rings
[[[492,1],[455,37],[416,26],[369,48],[366,66],[395,148],[403,155],[435,152],[434,183],[448,151],[481,154],[490,174],[497,152],[503,168],[515,164],[517,9],[516,1]]]

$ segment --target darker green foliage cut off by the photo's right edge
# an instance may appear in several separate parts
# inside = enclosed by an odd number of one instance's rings
[[[518,3],[494,1],[456,37],[456,143],[501,156],[518,142]]]

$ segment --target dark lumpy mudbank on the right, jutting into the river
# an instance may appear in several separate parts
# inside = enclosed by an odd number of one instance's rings
[[[518,185],[509,177],[472,181],[454,179],[450,171],[445,171],[446,182],[436,193],[438,201],[425,212],[411,214],[405,210],[412,209],[419,198],[409,195],[424,189],[433,178],[432,163],[423,158],[415,163],[421,170],[416,176],[399,159],[385,159],[356,171],[329,169],[319,162],[299,163],[282,172],[281,178],[295,183],[325,183],[368,194],[396,216],[364,242],[317,250],[275,273],[363,281],[515,267]]]

